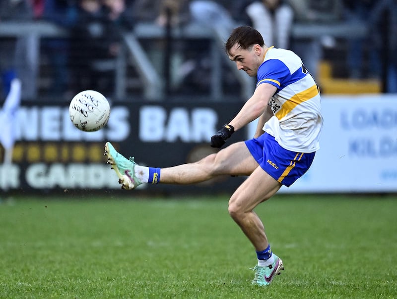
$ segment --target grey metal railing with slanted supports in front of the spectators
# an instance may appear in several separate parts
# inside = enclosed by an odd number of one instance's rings
[[[173,40],[185,40],[185,42],[188,43],[192,40],[211,41],[209,43],[209,53],[211,57],[209,94],[212,100],[222,100],[226,94],[226,91],[222,90],[220,75],[222,63],[230,66],[230,72],[233,73],[233,76],[241,86],[240,96],[242,98],[247,98],[252,94],[255,88],[255,82],[252,78],[247,77],[244,72],[239,72],[235,67],[234,62],[231,62],[228,57],[224,55],[223,44],[227,38],[227,33],[225,37],[223,34],[218,32],[218,30],[219,28],[217,27],[212,30],[200,24],[192,23],[183,26],[183,28],[174,28],[172,30],[171,37]],[[291,30],[291,38],[293,40],[305,42],[316,40],[323,36],[350,39],[352,37],[365,37],[366,34],[367,27],[365,24],[360,22],[332,22],[327,24],[295,23]],[[27,59],[27,69],[30,70],[30,88],[24,89],[22,98],[25,100],[34,100],[41,96],[41,89],[48,89],[48,83],[43,82],[51,81],[51,78],[43,78],[43,74],[40,75],[40,68],[42,67],[42,65],[40,65],[40,45],[42,39],[68,38],[69,32],[63,27],[44,20],[4,20],[1,22],[0,39],[12,39],[18,37],[24,37],[26,39],[27,52],[24,54],[29,57],[29,59]],[[133,80],[128,79],[137,79],[140,83],[139,87],[142,89],[146,100],[166,100],[167,94],[164,92],[164,87],[166,85],[166,83],[163,82],[164,78],[156,73],[156,68],[151,66],[152,62],[148,58],[148,54],[140,45],[140,42],[143,40],[163,40],[164,38],[164,28],[153,23],[137,23],[135,24],[132,32],[124,34],[123,41],[126,49],[121,50],[117,59],[112,62],[116,78],[114,98],[122,100],[131,97],[131,91],[128,91],[127,81],[130,81],[131,84],[131,81]],[[128,66],[133,66],[137,71],[139,78],[128,78]],[[355,84],[356,83],[357,82],[355,82]],[[326,82],[326,85],[330,85],[329,80]]]

